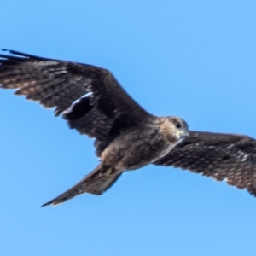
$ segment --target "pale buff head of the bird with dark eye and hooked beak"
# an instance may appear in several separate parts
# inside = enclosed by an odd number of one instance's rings
[[[189,125],[185,120],[173,116],[160,119],[160,131],[168,137],[171,143],[181,143],[189,136]]]

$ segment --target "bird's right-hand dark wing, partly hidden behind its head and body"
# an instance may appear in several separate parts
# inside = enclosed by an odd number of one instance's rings
[[[188,138],[154,164],[226,179],[256,196],[256,141],[251,137],[190,131]]]

